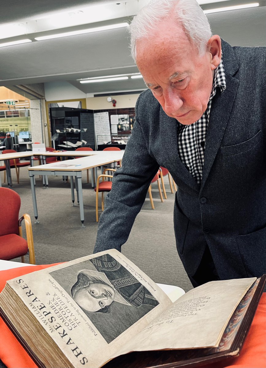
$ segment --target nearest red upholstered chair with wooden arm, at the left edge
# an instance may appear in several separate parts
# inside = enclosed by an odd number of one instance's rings
[[[0,216],[0,259],[9,261],[21,257],[21,262],[24,263],[24,256],[29,253],[29,263],[34,265],[36,262],[31,218],[24,213],[18,219],[20,196],[12,189],[0,188],[0,202],[4,204],[4,210]],[[22,238],[22,220],[25,220],[27,240]]]

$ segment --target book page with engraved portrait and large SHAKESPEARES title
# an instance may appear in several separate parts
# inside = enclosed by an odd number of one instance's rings
[[[77,368],[84,362],[101,366],[172,305],[116,250],[20,276],[8,285]]]

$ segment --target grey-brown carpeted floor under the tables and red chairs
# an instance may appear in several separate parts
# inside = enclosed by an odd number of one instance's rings
[[[20,215],[29,213],[31,216],[36,263],[70,261],[92,254],[98,226],[95,221],[96,194],[91,184],[86,183],[85,173],[83,176],[85,228],[81,228],[79,207],[73,207],[71,202],[70,183],[63,182],[62,177],[49,176],[49,189],[44,190],[41,179],[36,177],[36,198],[40,223],[35,224],[27,167],[20,169],[20,184],[17,184],[15,170],[11,171],[12,188],[21,197]],[[3,173],[1,173],[1,181],[3,187],[7,187],[7,183],[3,183]],[[171,194],[167,177],[164,178],[164,181],[168,199],[162,203],[157,184],[153,184],[155,210],[151,209],[147,197],[136,218],[129,239],[122,247],[122,252],[155,282],[177,285],[188,291],[192,289],[192,285],[175,247],[174,194]],[[4,204],[1,205],[4,210]],[[28,262],[27,256],[26,262]]]

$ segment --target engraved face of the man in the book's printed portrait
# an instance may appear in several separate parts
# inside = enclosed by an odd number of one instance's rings
[[[115,290],[108,284],[92,282],[75,294],[74,300],[81,308],[89,312],[97,312],[99,309],[110,305],[115,299]]]

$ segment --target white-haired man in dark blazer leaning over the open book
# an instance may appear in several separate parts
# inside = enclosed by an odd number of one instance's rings
[[[194,0],[155,0],[130,26],[148,90],[95,251],[120,249],[159,165],[176,184],[176,247],[193,284],[266,272],[265,47],[211,35]],[[126,221],[125,221],[126,219]]]

